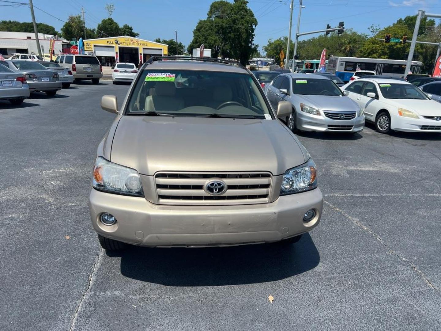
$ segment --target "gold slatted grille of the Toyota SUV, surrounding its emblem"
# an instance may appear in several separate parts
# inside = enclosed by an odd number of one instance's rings
[[[227,190],[213,196],[204,190],[219,180]],[[271,192],[270,173],[158,173],[155,176],[159,204],[228,205],[266,203]]]

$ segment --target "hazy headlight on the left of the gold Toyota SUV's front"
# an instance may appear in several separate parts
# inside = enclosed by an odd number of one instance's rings
[[[100,191],[125,196],[144,196],[138,171],[97,157],[92,186]]]

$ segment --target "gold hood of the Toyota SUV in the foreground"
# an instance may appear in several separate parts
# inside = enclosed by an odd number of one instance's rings
[[[306,160],[278,120],[123,116],[111,161],[153,176],[158,171],[269,171]]]

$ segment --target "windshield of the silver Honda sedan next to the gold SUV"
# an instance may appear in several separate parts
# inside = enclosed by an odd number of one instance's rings
[[[331,79],[293,78],[292,91],[302,95],[343,95]]]

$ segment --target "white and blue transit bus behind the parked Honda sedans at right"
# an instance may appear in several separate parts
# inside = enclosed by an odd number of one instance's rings
[[[406,69],[405,60],[385,60],[385,59],[367,59],[363,57],[343,57],[331,56],[328,60],[326,71],[338,76],[344,82],[349,82],[357,65],[360,70],[375,71],[376,75],[389,77],[402,77]],[[412,61],[411,72],[419,74],[421,72],[422,62]]]

